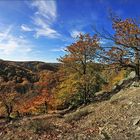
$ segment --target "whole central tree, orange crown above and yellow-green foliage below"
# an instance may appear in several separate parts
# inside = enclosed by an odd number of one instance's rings
[[[63,82],[61,86],[68,89],[67,86],[73,85],[69,90],[80,93],[84,104],[100,88],[100,65],[95,63],[96,53],[100,49],[97,35],[91,37],[89,34],[80,34],[76,42],[67,47],[67,54],[59,59],[67,75],[64,81],[67,83],[71,79],[69,84]]]

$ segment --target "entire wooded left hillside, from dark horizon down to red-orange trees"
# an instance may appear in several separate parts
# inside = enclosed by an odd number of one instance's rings
[[[14,104],[21,113],[35,110],[48,97],[47,80],[58,69],[57,63],[38,61],[14,62],[0,60],[0,116],[5,114],[4,104]],[[10,96],[14,94],[14,98]],[[43,107],[42,107],[43,105]],[[39,107],[38,107],[39,106]]]

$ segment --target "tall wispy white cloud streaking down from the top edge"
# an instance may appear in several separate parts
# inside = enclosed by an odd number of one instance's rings
[[[52,27],[57,18],[57,6],[55,0],[34,0],[30,5],[35,9],[32,15],[32,23],[35,32],[35,37],[41,36],[48,38],[58,38],[60,34]],[[22,30],[30,31],[27,26],[21,26]],[[28,30],[29,29],[29,30]]]

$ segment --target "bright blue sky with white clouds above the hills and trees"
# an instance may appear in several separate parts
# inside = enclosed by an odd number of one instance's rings
[[[109,9],[139,18],[140,0],[0,0],[0,59],[57,62],[79,33],[112,32]],[[104,40],[101,43],[106,43]]]

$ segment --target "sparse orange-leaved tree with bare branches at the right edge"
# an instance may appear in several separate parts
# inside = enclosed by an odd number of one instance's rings
[[[113,46],[105,46],[99,57],[109,65],[120,68],[130,68],[135,71],[136,79],[140,80],[140,24],[129,18],[122,20],[118,16],[111,16],[114,34],[105,31],[98,34],[113,41]]]

